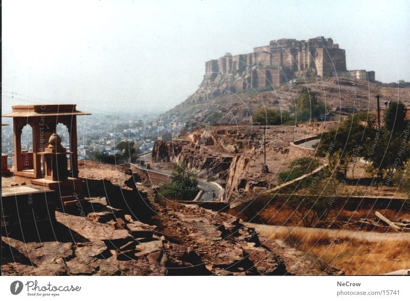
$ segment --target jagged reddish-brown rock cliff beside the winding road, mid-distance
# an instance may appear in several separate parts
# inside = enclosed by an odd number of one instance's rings
[[[272,126],[267,131],[267,164],[271,174],[261,173],[264,131],[258,126],[212,125],[172,142],[157,141],[153,159],[183,163],[191,170],[214,175],[225,188],[223,199],[234,201],[243,193],[272,188],[277,171],[287,168],[293,137],[304,137],[317,128]]]

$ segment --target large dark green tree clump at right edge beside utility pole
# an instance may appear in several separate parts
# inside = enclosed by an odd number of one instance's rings
[[[392,184],[394,172],[410,157],[405,106],[401,102],[391,104],[385,114],[385,126],[378,130],[375,125],[374,115],[351,115],[338,129],[323,133],[317,145],[318,154],[340,153],[344,175],[349,165],[354,168],[358,159],[364,157],[384,184]]]

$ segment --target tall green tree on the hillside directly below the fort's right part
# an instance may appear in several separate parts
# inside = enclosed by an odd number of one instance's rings
[[[320,115],[326,112],[323,102],[318,101],[310,89],[304,87],[296,101],[297,122],[319,120]]]

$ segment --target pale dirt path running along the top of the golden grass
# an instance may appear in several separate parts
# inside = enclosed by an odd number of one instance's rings
[[[379,233],[375,231],[353,231],[353,230],[339,230],[339,229],[323,229],[323,228],[308,228],[308,227],[296,227],[296,226],[273,226],[273,225],[262,225],[255,223],[244,222],[245,225],[255,228],[261,235],[271,236],[279,231],[292,231],[292,230],[302,230],[306,231],[306,235],[309,235],[311,231],[315,234],[323,233],[325,235],[330,235],[336,237],[349,237],[352,239],[367,240],[369,242],[380,242],[383,240],[406,240],[410,241],[410,233]]]

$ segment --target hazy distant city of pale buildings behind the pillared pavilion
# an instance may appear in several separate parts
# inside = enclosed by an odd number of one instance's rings
[[[3,119],[9,124],[2,127],[2,153],[8,154],[8,165],[13,164],[13,126],[11,120]],[[115,155],[121,151],[118,143],[134,143],[135,154],[152,150],[156,140],[171,141],[178,137],[185,123],[178,121],[177,115],[163,117],[119,119],[114,115],[94,114],[77,119],[78,159],[90,159],[93,152]],[[57,134],[61,145],[70,151],[68,129],[63,124],[57,125]],[[22,149],[32,152],[32,129],[29,125],[23,128]]]

